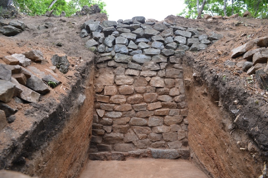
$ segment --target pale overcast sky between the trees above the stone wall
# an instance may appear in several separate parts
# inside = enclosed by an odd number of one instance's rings
[[[180,13],[185,5],[184,0],[103,0],[109,15],[108,20],[132,19],[144,16],[146,19],[164,20],[168,15]]]

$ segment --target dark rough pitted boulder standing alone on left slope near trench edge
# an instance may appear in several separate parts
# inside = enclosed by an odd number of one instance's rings
[[[51,58],[52,64],[56,66],[61,73],[67,73],[69,68],[69,61],[67,55],[54,54]]]

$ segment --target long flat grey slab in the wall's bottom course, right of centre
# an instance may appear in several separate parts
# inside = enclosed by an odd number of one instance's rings
[[[179,158],[179,151],[176,149],[150,149],[153,158],[156,159],[176,159]]]

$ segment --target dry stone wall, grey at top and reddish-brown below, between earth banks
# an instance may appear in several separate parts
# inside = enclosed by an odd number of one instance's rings
[[[97,55],[90,159],[188,158],[181,57],[223,36],[145,17],[89,20],[81,29]]]

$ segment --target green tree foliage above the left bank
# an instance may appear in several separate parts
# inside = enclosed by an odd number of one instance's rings
[[[101,13],[106,13],[107,11],[104,9],[106,3],[102,0],[70,0],[66,2],[65,0],[57,0],[53,6],[48,9],[52,0],[13,0],[13,4],[17,7],[20,12],[27,13],[27,15],[43,15],[48,10],[54,10],[53,14],[60,15],[62,11],[65,11],[66,16],[70,16],[74,14],[76,11],[82,9],[83,6],[91,6],[92,4],[98,4],[99,8],[101,8]]]

